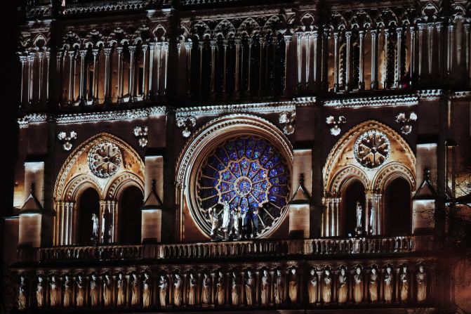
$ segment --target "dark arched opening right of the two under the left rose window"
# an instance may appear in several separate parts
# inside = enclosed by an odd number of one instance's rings
[[[119,199],[119,241],[121,244],[139,244],[143,196],[134,185],[126,188]]]

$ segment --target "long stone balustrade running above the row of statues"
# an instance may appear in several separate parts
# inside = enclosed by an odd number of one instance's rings
[[[96,247],[19,248],[19,261],[119,261],[207,259],[246,256],[398,254],[428,251],[429,236],[251,240],[182,244],[99,245]]]

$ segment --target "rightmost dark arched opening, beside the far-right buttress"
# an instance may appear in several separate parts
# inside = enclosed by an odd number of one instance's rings
[[[406,179],[397,178],[387,185],[384,204],[385,235],[411,233],[411,186]]]

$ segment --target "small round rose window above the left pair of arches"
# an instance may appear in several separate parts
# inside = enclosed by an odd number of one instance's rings
[[[110,142],[98,143],[88,153],[88,165],[95,176],[108,178],[121,165],[121,151]]]

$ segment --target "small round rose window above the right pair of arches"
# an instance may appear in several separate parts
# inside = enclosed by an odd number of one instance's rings
[[[361,134],[355,142],[354,155],[362,166],[373,169],[385,162],[390,147],[390,140],[383,132],[370,130]]]

